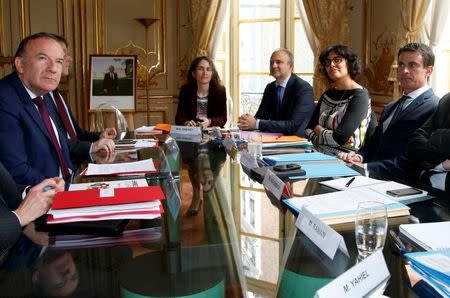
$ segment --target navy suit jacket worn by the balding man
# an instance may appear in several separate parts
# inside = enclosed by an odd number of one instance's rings
[[[305,128],[314,111],[314,97],[311,85],[291,74],[284,90],[281,112],[283,117],[277,119],[276,85],[269,83],[264,90],[261,104],[255,118],[259,119],[259,130],[281,132],[286,135],[305,136]]]

